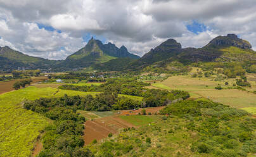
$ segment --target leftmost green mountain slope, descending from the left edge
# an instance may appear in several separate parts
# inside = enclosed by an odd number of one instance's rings
[[[8,46],[0,47],[0,70],[10,72],[15,69],[48,69],[56,61],[32,57],[11,49]]]

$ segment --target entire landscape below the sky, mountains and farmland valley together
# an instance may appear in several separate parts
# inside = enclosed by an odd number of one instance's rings
[[[256,153],[255,51],[236,35],[198,49],[169,39],[141,58],[92,38],[44,67],[0,54],[34,67],[0,76],[0,156]]]

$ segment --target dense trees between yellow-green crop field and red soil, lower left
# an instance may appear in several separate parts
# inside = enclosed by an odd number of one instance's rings
[[[76,97],[65,95],[59,99],[41,98],[35,102],[24,103],[27,110],[54,120],[54,123],[45,129],[42,137],[44,149],[39,156],[84,156],[88,153],[86,149],[82,149],[85,118],[76,113],[76,100]]]

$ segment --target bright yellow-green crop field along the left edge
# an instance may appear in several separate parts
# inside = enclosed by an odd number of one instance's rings
[[[34,100],[40,97],[95,96],[99,92],[68,91],[51,87],[37,88],[34,86],[7,92],[0,95],[0,156],[30,156],[37,137],[48,125],[49,120],[32,111],[24,110],[22,102],[25,99]],[[141,100],[143,97],[127,96]],[[81,113],[86,114],[86,113]],[[94,113],[99,115],[99,113]],[[110,113],[106,113],[109,115]],[[103,113],[100,115],[103,117]]]

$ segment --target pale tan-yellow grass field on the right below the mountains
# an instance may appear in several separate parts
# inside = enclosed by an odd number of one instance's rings
[[[248,75],[248,80],[252,87],[246,87],[246,91],[256,91],[255,75]],[[229,82],[229,85],[225,85],[225,82]],[[253,108],[256,108],[256,94],[233,89],[234,87],[231,85],[234,82],[234,78],[214,81],[214,78],[193,78],[188,75],[172,76],[151,85],[160,89],[188,91],[192,98],[205,97],[233,108],[250,108],[251,110],[246,111],[255,114]],[[224,89],[216,90],[217,85],[221,85]]]

